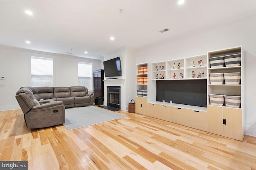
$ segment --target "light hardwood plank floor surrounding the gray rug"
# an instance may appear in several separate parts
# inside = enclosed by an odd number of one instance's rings
[[[0,111],[0,160],[29,170],[256,169],[256,137],[236,141],[128,111],[68,131],[28,129],[22,111]]]

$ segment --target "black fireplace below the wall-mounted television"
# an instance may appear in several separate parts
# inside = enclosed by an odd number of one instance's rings
[[[107,104],[108,106],[120,109],[120,86],[107,86]]]

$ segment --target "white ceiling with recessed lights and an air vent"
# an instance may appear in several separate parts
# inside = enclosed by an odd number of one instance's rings
[[[254,15],[256,0],[1,0],[0,45],[103,59],[120,47]]]

